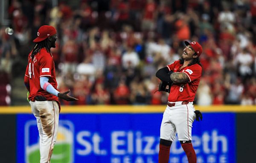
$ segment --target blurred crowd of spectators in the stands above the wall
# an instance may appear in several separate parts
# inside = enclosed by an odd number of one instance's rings
[[[203,46],[195,104],[256,104],[256,0],[10,0],[1,25],[0,70],[23,76],[38,28],[57,28],[52,48],[63,104],[166,104],[155,73]],[[69,4],[70,3],[70,4]]]

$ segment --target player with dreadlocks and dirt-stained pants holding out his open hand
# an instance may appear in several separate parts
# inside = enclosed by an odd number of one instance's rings
[[[57,138],[60,102],[78,100],[68,96],[68,90],[59,93],[55,79],[55,65],[50,48],[55,48],[56,29],[43,25],[38,29],[35,46],[28,56],[24,83],[29,91],[29,104],[37,120],[40,136],[40,163],[50,163]]]

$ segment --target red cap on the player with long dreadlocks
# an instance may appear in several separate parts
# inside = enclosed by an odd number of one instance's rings
[[[55,35],[57,33],[56,29],[50,25],[43,25],[38,29],[38,37],[33,40],[33,42],[41,42],[48,37]]]

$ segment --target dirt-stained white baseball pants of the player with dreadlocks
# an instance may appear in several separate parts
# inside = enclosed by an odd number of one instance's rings
[[[40,163],[50,163],[57,139],[59,107],[56,101],[30,101],[40,137]]]

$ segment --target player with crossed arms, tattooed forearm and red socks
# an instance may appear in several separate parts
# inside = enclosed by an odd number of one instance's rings
[[[186,47],[178,61],[161,68],[156,76],[162,82],[159,91],[169,92],[168,103],[160,128],[160,150],[158,163],[168,163],[170,147],[176,134],[186,153],[189,163],[196,163],[191,132],[195,118],[202,120],[199,110],[195,111],[193,101],[201,79],[202,67],[199,56],[202,47],[198,42],[185,41]],[[166,86],[169,86],[166,89]]]

